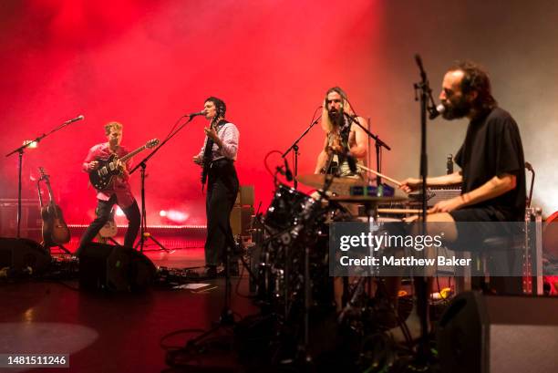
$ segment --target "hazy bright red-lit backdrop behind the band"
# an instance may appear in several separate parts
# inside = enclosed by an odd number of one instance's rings
[[[363,116],[374,106],[382,18],[379,2],[351,2],[342,11],[297,1],[5,1],[0,68],[4,72],[2,154],[59,123],[85,115],[24,157],[24,194],[42,165],[51,175],[68,223],[88,223],[95,206],[81,161],[106,140],[102,126],[124,124],[133,149],[163,139],[204,98],[223,98],[241,132],[237,170],[265,206],[274,190],[263,167],[270,150],[286,150],[309,125],[325,90],[339,85]],[[374,118],[373,118],[374,119]],[[158,212],[187,212],[203,223],[198,117],[150,161],[149,223]],[[381,129],[375,129],[381,130]],[[323,132],[300,143],[300,171],[311,172]],[[2,196],[16,195],[16,156],[0,161]],[[139,161],[139,157],[136,157]],[[270,158],[272,166],[278,157]],[[140,196],[140,175],[132,187]]]

